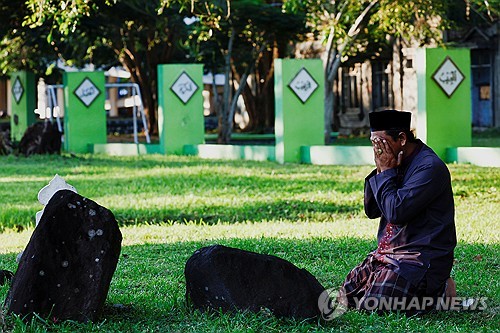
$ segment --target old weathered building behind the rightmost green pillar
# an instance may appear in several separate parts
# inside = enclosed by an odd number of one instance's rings
[[[473,27],[468,31],[449,31],[444,41],[450,47],[471,50],[472,126],[500,127],[500,43],[499,26]],[[308,47],[311,47],[309,45]],[[334,111],[338,130],[343,134],[362,134],[368,128],[368,113],[382,109],[417,110],[416,47],[395,38],[392,50],[383,50],[370,59],[351,59],[339,69],[334,87]],[[317,47],[315,56],[320,56]],[[299,55],[300,57],[300,52]],[[311,53],[308,54],[311,56]]]

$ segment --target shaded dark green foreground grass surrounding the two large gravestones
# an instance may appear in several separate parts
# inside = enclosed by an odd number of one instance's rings
[[[165,231],[168,232],[168,228]],[[58,331],[68,325],[72,331],[164,332],[471,332],[498,328],[499,282],[496,277],[499,246],[496,244],[459,244],[452,273],[457,281],[458,296],[488,298],[489,308],[485,311],[431,313],[411,318],[394,313],[379,316],[348,311],[330,322],[301,322],[274,318],[266,313],[191,311],[185,304],[184,264],[196,249],[215,243],[286,259],[310,271],[325,288],[338,288],[349,270],[375,246],[371,240],[358,238],[230,238],[125,246],[111,283],[102,321],[91,327],[88,324],[61,323],[53,325],[50,330]],[[0,255],[0,267],[13,270],[14,257],[15,254]],[[4,288],[2,299],[5,294]],[[10,325],[20,324],[10,321]]]

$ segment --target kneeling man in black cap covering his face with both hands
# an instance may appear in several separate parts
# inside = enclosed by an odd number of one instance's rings
[[[378,247],[347,275],[343,289],[349,307],[414,313],[424,310],[415,300],[436,300],[446,289],[454,296],[450,173],[410,131],[410,112],[369,117],[376,169],[365,179],[364,207],[369,218],[380,217]]]

